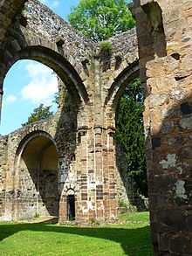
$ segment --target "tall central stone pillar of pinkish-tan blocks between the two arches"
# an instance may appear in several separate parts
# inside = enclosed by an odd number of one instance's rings
[[[90,75],[90,84],[93,83],[94,88],[93,98],[90,104],[79,108],[77,117],[76,222],[80,225],[113,222],[117,215],[115,128],[110,126],[112,119],[109,122],[105,120],[101,73],[100,60],[96,56],[93,76]],[[64,202],[60,211],[65,211]]]

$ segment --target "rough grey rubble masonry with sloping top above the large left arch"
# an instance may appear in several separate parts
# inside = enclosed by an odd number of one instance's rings
[[[82,62],[90,59],[95,45],[93,41],[74,30],[72,25],[38,1],[28,1],[22,16],[26,19],[25,29],[28,32],[28,38],[36,37],[38,33],[38,36],[45,39],[47,44],[48,41],[51,44],[55,43],[58,48],[56,51],[72,64],[79,75],[80,73],[83,75]]]

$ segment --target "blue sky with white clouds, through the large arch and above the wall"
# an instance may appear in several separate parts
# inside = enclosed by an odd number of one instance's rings
[[[51,10],[66,20],[70,7],[79,0],[41,0]],[[21,128],[35,107],[40,103],[50,106],[58,91],[57,77],[47,66],[36,61],[20,60],[10,68],[3,82],[3,106],[0,135],[6,135]]]

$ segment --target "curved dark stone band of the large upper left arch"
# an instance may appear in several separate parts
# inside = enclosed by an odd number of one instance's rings
[[[62,58],[58,52],[51,48],[47,48],[44,45],[37,46],[33,43],[25,46],[23,49],[20,49],[18,52],[14,52],[9,61],[3,63],[6,68],[2,70],[2,76],[0,78],[2,92],[3,80],[11,66],[13,66],[18,60],[31,59],[50,67],[55,73],[57,73],[60,80],[65,84],[76,107],[79,107],[81,101],[87,102],[88,95],[86,87],[75,68],[66,59]]]

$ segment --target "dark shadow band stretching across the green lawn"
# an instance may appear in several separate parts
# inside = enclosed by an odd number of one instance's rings
[[[38,224],[0,224],[0,241],[21,231],[58,232],[74,234],[97,239],[108,239],[119,243],[127,255],[135,255],[134,248],[140,248],[139,255],[153,255],[150,243],[149,226],[124,228],[121,226],[109,227],[77,227]],[[147,250],[147,251],[146,251]],[[134,252],[134,253],[133,253]],[[147,253],[148,252],[148,253]],[[147,254],[146,254],[147,253]]]

